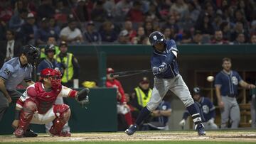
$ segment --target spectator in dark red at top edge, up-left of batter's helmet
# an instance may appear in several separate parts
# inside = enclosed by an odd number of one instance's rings
[[[133,23],[141,23],[144,20],[144,14],[142,12],[142,3],[137,0],[134,1],[132,9],[127,13],[126,18]]]

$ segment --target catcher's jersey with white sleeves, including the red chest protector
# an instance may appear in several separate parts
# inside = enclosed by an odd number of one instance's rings
[[[57,89],[51,89],[46,92],[41,82],[36,82],[26,89],[23,96],[18,99],[16,106],[23,107],[23,102],[31,98],[36,102],[37,111],[40,114],[46,113],[55,103],[58,96],[67,97],[74,91],[68,87],[60,85]]]

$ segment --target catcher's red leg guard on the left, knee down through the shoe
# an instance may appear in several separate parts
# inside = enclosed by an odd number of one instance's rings
[[[36,102],[27,99],[23,104],[21,115],[18,122],[18,128],[14,131],[14,135],[18,138],[23,137],[28,125],[33,118],[33,113],[36,111]]]

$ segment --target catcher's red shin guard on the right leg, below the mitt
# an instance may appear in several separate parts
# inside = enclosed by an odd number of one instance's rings
[[[55,120],[53,121],[53,126],[50,128],[50,133],[52,135],[60,135],[60,132],[63,129],[65,123],[68,122],[70,118],[70,109],[66,104],[58,104],[53,107],[53,111],[55,113]],[[60,135],[61,136],[61,135]]]

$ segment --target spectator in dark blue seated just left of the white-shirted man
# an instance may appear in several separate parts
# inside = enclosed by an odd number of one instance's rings
[[[41,28],[38,28],[38,31],[35,35],[35,40],[38,45],[45,45],[50,36],[58,37],[54,31],[50,31],[49,20],[48,18],[43,18],[41,21]]]

